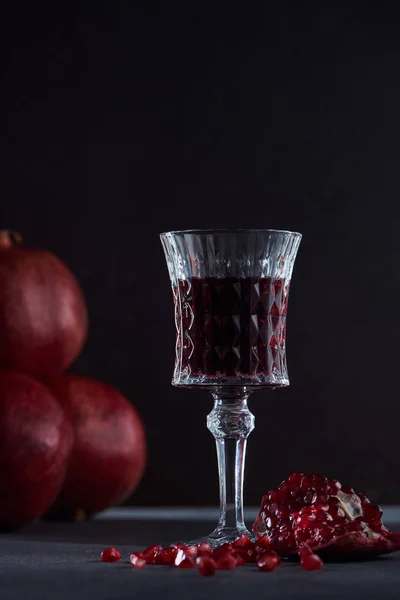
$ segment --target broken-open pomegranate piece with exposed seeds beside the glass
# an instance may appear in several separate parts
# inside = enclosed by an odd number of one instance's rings
[[[294,473],[263,497],[253,531],[268,534],[284,556],[303,547],[347,557],[400,550],[400,533],[390,533],[381,517],[379,506],[335,479]]]

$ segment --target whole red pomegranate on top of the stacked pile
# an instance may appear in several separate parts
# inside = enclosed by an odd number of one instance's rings
[[[54,254],[19,241],[0,232],[0,368],[45,380],[79,354],[87,311],[71,271]]]

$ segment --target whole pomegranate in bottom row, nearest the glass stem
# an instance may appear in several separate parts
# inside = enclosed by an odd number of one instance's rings
[[[80,518],[123,502],[146,464],[142,421],[116,389],[65,375],[50,383],[74,428],[63,488],[49,516]]]

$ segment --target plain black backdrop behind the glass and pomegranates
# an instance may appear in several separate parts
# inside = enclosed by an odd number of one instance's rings
[[[134,504],[217,503],[211,397],[170,385],[158,239],[205,227],[304,234],[291,387],[251,399],[246,503],[294,470],[400,502],[400,18],[327,6],[2,9],[1,225],[81,282],[91,327],[74,368],[147,427]]]

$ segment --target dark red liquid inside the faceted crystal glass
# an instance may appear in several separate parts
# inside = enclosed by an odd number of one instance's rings
[[[174,292],[180,369],[190,380],[283,384],[289,281],[192,277]]]

